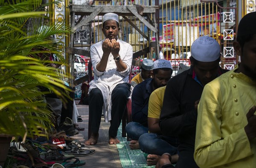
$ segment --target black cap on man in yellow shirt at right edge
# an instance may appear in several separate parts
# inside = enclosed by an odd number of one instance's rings
[[[244,15],[238,25],[237,36],[249,34],[256,34],[256,11]]]

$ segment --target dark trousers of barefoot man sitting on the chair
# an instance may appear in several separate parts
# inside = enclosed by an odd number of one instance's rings
[[[127,97],[130,96],[131,85],[129,83],[120,83],[116,85],[111,94],[111,122],[108,135],[116,137],[118,127],[121,123],[122,116],[127,104]],[[89,120],[91,133],[99,132],[99,125],[102,116],[103,96],[99,88],[93,88],[89,94]]]

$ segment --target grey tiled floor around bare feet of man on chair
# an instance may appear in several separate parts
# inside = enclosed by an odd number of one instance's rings
[[[78,101],[76,101],[78,103]],[[79,134],[73,136],[73,138],[79,139],[81,143],[84,144],[85,140],[88,138],[88,105],[76,105],[82,122],[78,122],[79,127],[84,127],[84,131],[80,131]],[[79,157],[80,160],[85,160],[86,164],[84,166],[79,166],[79,168],[122,168],[119,154],[116,145],[108,144],[108,128],[110,123],[102,122],[99,130],[99,140],[94,146],[87,146],[94,149],[96,152],[86,157]]]

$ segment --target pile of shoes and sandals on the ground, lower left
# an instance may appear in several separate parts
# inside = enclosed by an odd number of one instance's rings
[[[76,168],[85,164],[78,157],[94,153],[95,150],[85,148],[79,140],[68,137],[65,131],[61,131],[52,134],[47,143],[40,144],[31,140],[11,142],[8,157],[15,159],[13,167]]]

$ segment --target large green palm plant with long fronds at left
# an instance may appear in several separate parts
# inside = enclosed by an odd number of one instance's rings
[[[0,0],[2,137],[22,137],[24,141],[35,135],[47,136],[53,125],[53,115],[43,99],[47,92],[38,88],[49,88],[60,97],[65,93],[58,88],[67,89],[56,68],[47,66],[53,61],[40,58],[42,54],[55,54],[59,64],[65,63],[62,52],[55,45],[60,42],[49,37],[70,33],[70,28],[63,24],[43,21],[46,19],[44,6],[47,5],[42,4],[42,0]]]

